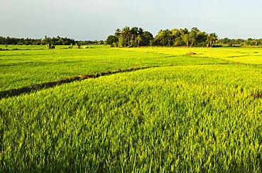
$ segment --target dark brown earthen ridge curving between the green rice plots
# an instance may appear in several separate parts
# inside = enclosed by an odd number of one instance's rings
[[[23,88],[18,88],[18,89],[4,90],[4,91],[0,91],[0,99],[4,97],[12,97],[16,95],[21,95],[23,93],[30,93],[33,90],[40,90],[40,89],[55,87],[57,85],[62,85],[63,83],[72,83],[76,80],[84,80],[86,78],[98,78],[100,76],[107,76],[110,74],[123,73],[123,72],[128,72],[128,71],[137,71],[137,70],[142,70],[142,69],[151,68],[151,67],[157,67],[157,66],[145,66],[145,67],[123,68],[123,69],[118,68],[118,70],[116,71],[106,71],[106,72],[93,73],[90,75],[75,76],[72,78],[62,78],[60,80],[55,80],[55,81],[48,82],[48,83],[40,83],[38,85],[31,85],[28,87],[23,87]]]

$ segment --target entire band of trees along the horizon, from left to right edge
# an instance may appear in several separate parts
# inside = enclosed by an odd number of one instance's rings
[[[18,44],[18,45],[46,45],[47,49],[55,48],[55,45],[73,44],[80,47],[83,44],[110,44],[111,47],[144,47],[144,46],[164,46],[164,47],[213,47],[213,46],[262,46],[261,39],[229,39],[227,37],[218,39],[215,32],[208,34],[198,30],[198,28],[184,29],[166,29],[159,30],[156,36],[143,28],[125,26],[122,30],[115,30],[114,35],[108,35],[106,41],[103,40],[86,40],[75,41],[67,37],[47,37],[44,39],[1,37],[0,44]]]

